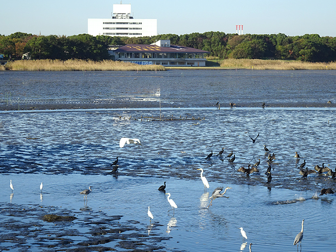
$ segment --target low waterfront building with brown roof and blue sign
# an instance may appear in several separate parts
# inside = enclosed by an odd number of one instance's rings
[[[113,51],[116,60],[140,65],[205,66],[207,51],[171,45],[170,40],[159,40],[151,45],[124,45]]]

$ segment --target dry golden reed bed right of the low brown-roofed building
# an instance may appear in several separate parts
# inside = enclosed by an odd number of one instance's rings
[[[336,62],[302,62],[263,59],[224,59],[221,67],[255,70],[336,70]]]

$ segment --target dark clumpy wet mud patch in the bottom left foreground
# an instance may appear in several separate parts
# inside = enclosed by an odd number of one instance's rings
[[[167,251],[160,243],[170,239],[159,223],[123,221],[102,211],[7,203],[0,215],[1,251]]]

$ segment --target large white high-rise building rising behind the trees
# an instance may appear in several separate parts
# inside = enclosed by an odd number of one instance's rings
[[[112,18],[88,18],[88,34],[92,36],[156,36],[156,19],[131,17],[131,4],[113,4]]]

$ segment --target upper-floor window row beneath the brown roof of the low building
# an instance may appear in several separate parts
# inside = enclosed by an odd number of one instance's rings
[[[118,53],[118,58],[203,58],[203,54],[187,54],[187,53]]]

